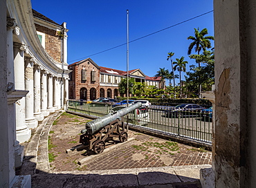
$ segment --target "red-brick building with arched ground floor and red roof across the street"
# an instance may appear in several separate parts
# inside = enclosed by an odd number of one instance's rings
[[[98,66],[91,58],[75,62],[68,66],[72,72],[69,74],[69,98],[75,100],[95,100],[98,97],[118,97],[118,84],[122,78],[127,77],[127,71]],[[128,71],[129,77],[135,82],[163,88],[165,82],[161,77],[148,77],[139,68]]]

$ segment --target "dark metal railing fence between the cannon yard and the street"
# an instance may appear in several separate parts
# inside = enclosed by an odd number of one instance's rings
[[[112,104],[101,102],[68,101],[68,111],[98,117],[124,107],[116,106],[113,108]],[[173,106],[149,106],[146,108],[147,110],[140,109],[124,118],[131,126],[138,129],[147,129],[207,144],[212,143],[212,113],[183,111],[182,115],[177,115],[177,113],[170,113],[172,108]]]

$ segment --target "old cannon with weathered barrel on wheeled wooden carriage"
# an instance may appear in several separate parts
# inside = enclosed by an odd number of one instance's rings
[[[128,133],[125,130],[125,124],[122,122],[122,116],[131,113],[135,109],[142,106],[141,102],[133,104],[121,109],[120,111],[111,111],[108,115],[101,118],[87,122],[85,129],[82,129],[80,135],[80,143],[84,144],[89,149],[98,154],[102,153],[105,149],[105,142],[119,138],[120,142],[127,141]]]

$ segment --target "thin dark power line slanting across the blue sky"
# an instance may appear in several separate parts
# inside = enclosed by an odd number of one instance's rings
[[[154,35],[154,34],[156,34],[156,33],[158,33],[158,32],[163,31],[163,30],[167,30],[167,29],[169,29],[169,28],[173,28],[173,27],[175,27],[175,26],[179,26],[179,25],[181,25],[182,23],[188,22],[188,21],[190,21],[190,20],[192,20],[192,19],[196,19],[196,18],[198,18],[198,17],[202,17],[202,16],[204,16],[204,15],[207,15],[207,14],[209,14],[210,12],[213,12],[213,10],[210,10],[209,12],[205,12],[205,13],[203,13],[202,15],[198,15],[198,16],[196,16],[196,17],[192,17],[192,18],[190,18],[190,19],[186,19],[185,21],[181,21],[181,22],[179,22],[179,23],[176,23],[176,24],[174,24],[174,25],[172,25],[172,26],[169,26],[169,27],[167,27],[167,28],[163,28],[163,29],[158,30],[158,31],[156,31],[156,32],[152,32],[152,33],[150,33],[149,35],[145,35],[145,36],[140,37],[140,38],[138,38],[138,39],[134,39],[134,40],[132,40],[132,41],[129,41],[129,43],[134,42],[134,41],[138,41],[138,40],[143,39],[143,38],[145,38],[145,37],[149,37],[150,35]],[[93,56],[93,55],[98,55],[98,54],[100,54],[100,53],[104,53],[104,52],[107,52],[107,51],[109,51],[109,50],[113,50],[113,49],[115,49],[115,48],[118,48],[118,47],[120,47],[120,46],[124,46],[124,45],[126,45],[126,44],[127,44],[127,43],[120,44],[120,45],[118,45],[118,46],[109,48],[109,49],[107,49],[107,50],[103,50],[103,51],[100,51],[100,52],[98,52],[98,53],[93,53],[92,55],[87,55],[86,57],[91,57],[91,56]],[[81,57],[80,59],[84,59],[84,58],[86,58],[86,57]],[[72,61],[69,61],[69,62],[75,62],[75,61],[78,61],[78,60],[80,60],[80,59],[75,59],[75,60],[72,60]]]

